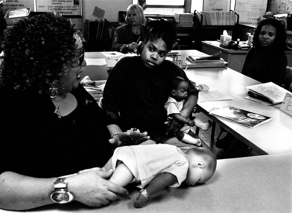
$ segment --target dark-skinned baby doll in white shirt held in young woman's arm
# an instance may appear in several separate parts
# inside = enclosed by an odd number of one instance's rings
[[[171,124],[172,119],[176,120],[179,123],[184,123],[185,126],[176,133],[176,137],[187,144],[200,146],[201,140],[199,138],[193,138],[187,133],[193,126],[199,127],[200,129],[206,131],[212,126],[212,122],[208,120],[206,123],[204,123],[197,117],[194,120],[189,120],[180,114],[184,99],[186,99],[186,97],[188,96],[188,87],[189,85],[186,80],[179,76],[176,76],[171,82],[170,97],[164,105],[168,117],[168,121],[165,123]]]

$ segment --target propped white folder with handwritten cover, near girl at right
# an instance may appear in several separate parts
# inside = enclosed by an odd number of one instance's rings
[[[248,90],[249,96],[244,98],[263,103],[265,105],[282,103],[286,93],[288,92],[286,89],[276,85],[273,82],[247,86],[246,89]]]

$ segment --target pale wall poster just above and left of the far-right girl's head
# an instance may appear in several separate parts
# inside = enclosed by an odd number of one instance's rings
[[[268,0],[236,0],[235,12],[239,15],[240,23],[257,24],[266,14]]]

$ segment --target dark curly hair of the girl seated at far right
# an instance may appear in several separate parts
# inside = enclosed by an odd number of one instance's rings
[[[262,30],[262,26],[264,25],[272,25],[276,28],[276,38],[274,43],[272,44],[272,48],[278,51],[284,51],[286,47],[286,27],[285,25],[278,19],[263,19],[259,22],[258,26],[255,29],[255,34],[253,36],[253,46],[261,46],[259,42],[259,34]]]

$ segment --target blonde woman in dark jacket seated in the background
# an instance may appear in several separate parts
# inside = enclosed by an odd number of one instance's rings
[[[146,21],[143,9],[140,5],[130,5],[125,17],[127,24],[115,29],[115,41],[113,49],[118,52],[127,53],[136,51],[139,41],[144,41],[146,36]]]

